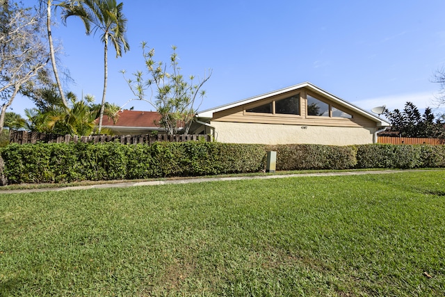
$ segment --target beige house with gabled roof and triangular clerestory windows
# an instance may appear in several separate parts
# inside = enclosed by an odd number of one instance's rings
[[[201,111],[194,133],[222,143],[376,143],[389,122],[312,83]]]

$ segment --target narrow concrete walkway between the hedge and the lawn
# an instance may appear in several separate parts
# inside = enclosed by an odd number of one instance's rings
[[[90,186],[65,186],[60,188],[30,188],[22,190],[5,190],[0,194],[17,194],[17,193],[35,193],[48,191],[73,191],[73,190],[89,190],[90,188],[128,188],[130,186],[158,186],[162,184],[192,184],[199,182],[225,182],[232,180],[249,180],[249,179],[277,179],[288,177],[321,177],[321,176],[344,176],[344,175],[382,175],[388,173],[401,173],[407,171],[431,171],[431,170],[378,170],[378,171],[345,171],[345,172],[321,172],[321,173],[301,173],[290,175],[257,175],[252,177],[195,177],[188,179],[166,179],[154,180],[149,182],[122,182],[113,184],[94,184]]]

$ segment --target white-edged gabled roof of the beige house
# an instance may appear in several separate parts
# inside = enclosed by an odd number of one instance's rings
[[[347,109],[353,110],[356,113],[359,113],[359,115],[364,116],[365,118],[369,118],[369,120],[373,120],[374,122],[377,122],[378,127],[389,127],[391,126],[391,124],[389,124],[389,122],[382,120],[381,118],[378,118],[377,116],[373,115],[372,113],[369,113],[368,111],[365,111],[364,109],[359,108],[358,106],[355,106],[354,104],[347,102],[343,99],[340,99],[337,96],[334,96],[330,93],[327,93],[325,90],[322,90],[321,88],[318,88],[317,86],[314,86],[312,83],[309,82],[305,82],[305,83],[299,83],[297,85],[294,86],[290,86],[287,88],[282,88],[280,90],[275,90],[273,92],[270,93],[266,93],[263,95],[258,95],[258,96],[254,96],[254,97],[250,97],[248,99],[243,99],[237,102],[233,102],[230,104],[225,104],[225,105],[221,105],[218,107],[215,107],[213,109],[207,109],[204,111],[200,111],[197,113],[196,117],[197,118],[213,118],[213,113],[217,113],[218,111],[225,111],[226,109],[232,109],[236,106],[241,106],[244,104],[248,104],[251,102],[255,102],[261,99],[266,99],[268,97],[273,97],[275,95],[280,95],[283,93],[287,93],[287,92],[291,92],[293,90],[298,90],[300,88],[307,88],[309,90],[311,90],[312,92],[321,95],[323,97],[326,97],[330,100],[332,100],[333,102],[339,104],[340,106],[346,107]]]

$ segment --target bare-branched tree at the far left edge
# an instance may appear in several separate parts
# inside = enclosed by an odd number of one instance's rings
[[[49,52],[38,13],[13,1],[0,2],[0,133],[6,110],[27,83],[47,77]]]

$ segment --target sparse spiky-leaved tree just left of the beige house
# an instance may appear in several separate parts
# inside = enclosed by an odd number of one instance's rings
[[[167,72],[167,66],[163,62],[154,61],[154,49],[147,49],[146,42],[142,43],[142,48],[150,78],[145,79],[143,72],[138,71],[133,74],[134,81],[125,79],[125,77],[124,79],[136,99],[149,102],[161,114],[159,124],[165,128],[168,134],[178,134],[180,126],[184,126],[181,132],[188,134],[193,117],[204,99],[205,91],[200,89],[211,77],[211,71],[209,75],[204,75],[204,79],[197,79],[196,83],[195,77],[192,75],[188,82],[180,73],[181,68],[178,65],[175,46],[172,47],[173,53],[170,56],[171,72]],[[125,74],[124,70],[122,70],[122,74]],[[149,99],[146,98],[147,88],[155,89],[156,96],[154,98],[152,96]],[[201,99],[200,102],[197,102],[197,98]],[[195,105],[197,106],[195,107]]]

